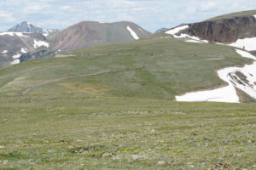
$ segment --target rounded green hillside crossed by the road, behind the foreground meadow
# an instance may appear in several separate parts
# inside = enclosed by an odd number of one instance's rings
[[[215,60],[214,54],[223,59]],[[17,94],[37,82],[55,78],[145,65],[133,71],[53,82],[30,93],[86,94],[86,88],[90,87],[96,95],[105,97],[174,99],[177,94],[222,86],[224,82],[215,71],[250,61],[241,58],[231,47],[182,42],[172,37],[84,48],[70,55],[37,59],[0,70],[0,94]]]

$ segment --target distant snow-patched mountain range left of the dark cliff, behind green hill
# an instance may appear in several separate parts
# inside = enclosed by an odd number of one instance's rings
[[[149,31],[126,21],[84,21],[63,31],[39,28],[24,21],[7,32],[0,32],[0,67],[42,58],[54,54],[54,51],[64,53],[105,43],[138,40],[150,35]],[[46,49],[48,52],[45,52]]]

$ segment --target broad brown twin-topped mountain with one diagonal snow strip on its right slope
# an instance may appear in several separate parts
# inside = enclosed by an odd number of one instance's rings
[[[150,36],[132,22],[99,23],[83,21],[61,31],[54,43],[55,50],[67,52],[104,43],[127,42]]]

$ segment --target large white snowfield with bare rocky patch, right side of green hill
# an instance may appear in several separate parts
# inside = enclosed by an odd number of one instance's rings
[[[242,57],[256,60],[255,56],[246,51],[236,49],[236,53]],[[228,86],[176,96],[176,100],[239,103],[236,88],[256,99],[256,61],[253,62],[253,65],[245,65],[242,68],[229,67],[222,69],[218,71],[218,77],[227,82]]]

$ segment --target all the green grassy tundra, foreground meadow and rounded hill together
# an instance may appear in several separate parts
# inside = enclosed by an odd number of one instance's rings
[[[224,85],[215,71],[246,62],[159,34],[2,69],[0,168],[253,169],[255,105],[173,101]]]

